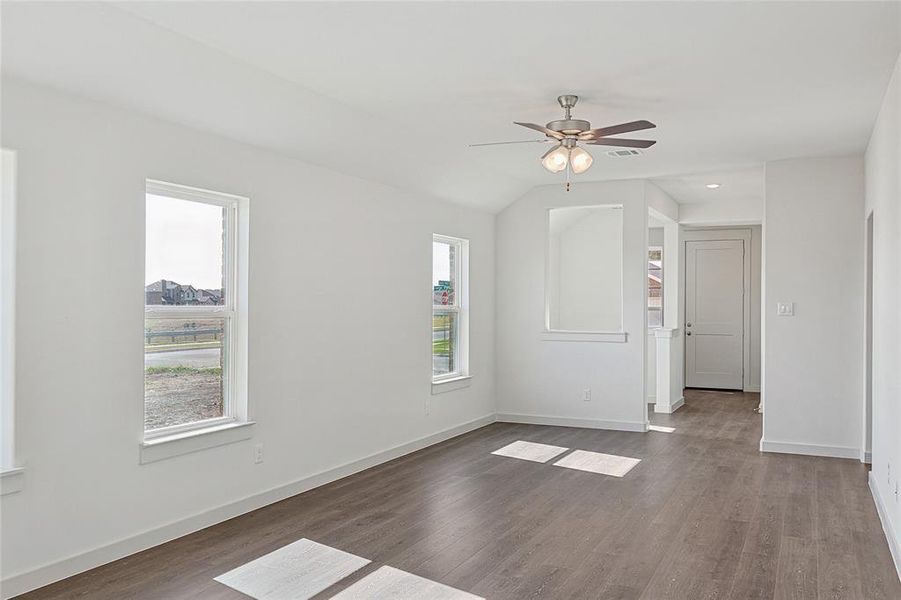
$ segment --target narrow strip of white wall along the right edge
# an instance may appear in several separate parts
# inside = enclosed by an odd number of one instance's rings
[[[901,468],[901,60],[867,148],[866,213],[858,215],[861,223],[870,211],[874,227],[870,479],[901,574],[901,501],[894,494]]]

